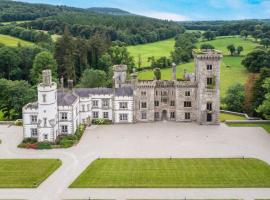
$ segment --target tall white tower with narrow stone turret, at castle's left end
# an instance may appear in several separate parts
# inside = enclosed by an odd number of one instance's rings
[[[51,70],[42,71],[38,85],[38,141],[55,141],[57,137],[57,84],[52,82]]]

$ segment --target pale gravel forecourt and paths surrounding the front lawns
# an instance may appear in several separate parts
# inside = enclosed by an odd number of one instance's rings
[[[261,128],[190,123],[93,126],[69,149],[17,149],[22,127],[0,126],[0,158],[59,158],[63,165],[37,189],[0,189],[0,199],[270,199],[270,189],[68,189],[98,157],[254,157],[270,163]]]

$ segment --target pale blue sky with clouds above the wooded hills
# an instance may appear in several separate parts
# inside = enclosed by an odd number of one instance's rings
[[[113,7],[174,21],[270,18],[270,0],[21,0],[80,8]]]

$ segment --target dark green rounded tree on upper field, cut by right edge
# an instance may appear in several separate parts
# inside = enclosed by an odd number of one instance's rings
[[[248,53],[242,64],[249,72],[258,73],[263,67],[270,67],[270,53],[263,49],[255,49]]]

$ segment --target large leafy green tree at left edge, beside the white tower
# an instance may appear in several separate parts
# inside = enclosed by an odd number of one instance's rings
[[[26,81],[0,79],[0,110],[7,120],[22,117],[22,107],[36,99],[36,91]]]

